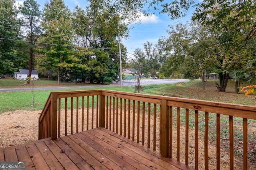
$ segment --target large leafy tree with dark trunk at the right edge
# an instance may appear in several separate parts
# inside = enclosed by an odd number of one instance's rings
[[[225,92],[230,73],[244,69],[243,61],[255,59],[256,8],[250,0],[204,0],[196,6],[193,20],[217,37],[220,91]]]

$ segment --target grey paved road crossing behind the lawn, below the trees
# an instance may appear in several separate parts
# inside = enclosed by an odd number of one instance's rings
[[[188,79],[142,79],[140,80],[140,85],[147,85],[147,84],[166,84],[166,83],[176,83],[176,82],[186,82],[189,81]],[[122,82],[123,86],[134,86],[137,85],[136,79],[133,80],[124,80]],[[100,87],[102,85],[95,85],[95,86],[75,86],[75,87],[45,87],[45,88],[34,88],[34,90],[53,90],[53,89],[68,89],[68,88],[93,88],[93,87]],[[104,87],[111,87],[111,86],[120,86],[119,84],[110,84],[104,85]],[[30,88],[2,88],[0,92],[7,92],[7,91],[22,91],[22,90],[31,90]]]

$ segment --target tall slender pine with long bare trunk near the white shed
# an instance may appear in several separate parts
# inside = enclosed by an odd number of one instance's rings
[[[29,59],[29,72],[28,77],[31,77],[31,72],[33,68],[33,56],[34,56],[34,45],[37,41],[41,29],[40,29],[40,15],[41,11],[39,10],[39,4],[34,0],[26,0],[23,3],[23,6],[20,6],[20,13],[22,14],[23,27],[25,28],[26,37],[30,41],[30,59]],[[28,79],[27,84],[30,83]]]

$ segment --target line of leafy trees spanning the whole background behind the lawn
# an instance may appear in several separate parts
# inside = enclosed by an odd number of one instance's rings
[[[14,2],[0,1],[1,73],[33,68],[58,83],[70,77],[111,82],[120,69],[116,37],[128,37],[129,24],[140,14],[150,15],[153,8],[175,19],[194,8],[191,22],[170,25],[157,44],[145,42],[132,58],[121,44],[124,68],[160,78],[201,77],[203,88],[205,72],[217,72],[221,92],[230,79],[236,89],[255,79],[256,5],[251,0],[88,0],[73,12],[62,0],[46,2],[42,11],[35,0],[20,7]]]

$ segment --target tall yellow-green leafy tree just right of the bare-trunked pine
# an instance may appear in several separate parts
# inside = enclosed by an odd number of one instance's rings
[[[48,68],[57,68],[57,80],[60,84],[61,70],[73,66],[74,50],[71,47],[74,30],[70,20],[70,10],[62,0],[50,0],[44,5],[42,26],[44,28],[44,53]]]

